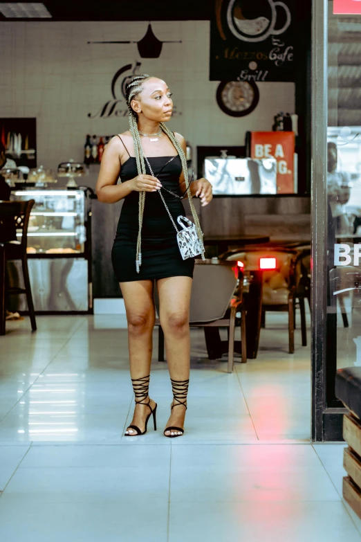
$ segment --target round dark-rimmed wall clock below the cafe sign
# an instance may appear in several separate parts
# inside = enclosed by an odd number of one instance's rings
[[[259,102],[259,89],[254,81],[222,81],[216,92],[222,111],[232,117],[250,114]]]

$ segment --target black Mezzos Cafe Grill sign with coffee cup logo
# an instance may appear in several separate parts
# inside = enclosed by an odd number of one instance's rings
[[[294,0],[215,0],[211,81],[294,81]]]

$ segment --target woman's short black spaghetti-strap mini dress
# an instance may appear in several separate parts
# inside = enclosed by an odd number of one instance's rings
[[[148,158],[154,175],[165,188],[180,194],[179,178],[182,172],[180,157],[156,156]],[[146,164],[147,166],[147,164]],[[159,173],[160,172],[160,173]],[[147,166],[147,174],[151,175]],[[120,180],[129,181],[138,175],[136,159],[122,164]],[[134,280],[158,280],[167,277],[193,278],[194,258],[183,260],[176,239],[176,229],[172,224],[160,195],[146,192],[142,222],[142,265],[136,271],[136,244],[138,239],[138,201],[139,193],[133,191],[124,198],[117,233],[111,251],[113,269],[118,282]],[[182,201],[162,190],[170,213],[176,222],[179,215],[185,216]],[[178,226],[178,222],[176,222]],[[180,228],[180,226],[179,226]]]

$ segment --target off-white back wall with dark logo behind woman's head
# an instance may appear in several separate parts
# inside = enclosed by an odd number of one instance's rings
[[[135,40],[146,22],[0,23],[0,117],[36,117],[38,164],[82,159],[86,134],[127,129],[127,118],[94,118],[111,100],[111,80],[121,66],[142,62],[140,73],[164,78],[182,114],[169,127],[196,145],[243,145],[247,130],[269,130],[280,110],[293,113],[293,83],[259,83],[259,105],[241,119],[216,104],[218,82],[209,78],[210,23],[154,22],[163,44],[158,59],[140,59],[136,44],[88,45],[88,41]]]

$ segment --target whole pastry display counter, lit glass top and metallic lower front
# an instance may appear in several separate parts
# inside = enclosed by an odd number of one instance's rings
[[[28,227],[28,267],[35,311],[91,311],[89,190],[13,190],[12,199],[35,199]],[[12,285],[19,284],[18,262],[10,263],[9,275]],[[13,297],[12,309],[26,309],[24,296]]]

